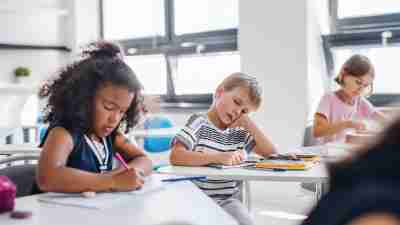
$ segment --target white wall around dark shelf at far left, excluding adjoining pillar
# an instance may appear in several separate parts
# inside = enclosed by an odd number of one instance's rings
[[[62,16],[39,8],[60,8],[61,0],[2,0],[0,43],[60,45]],[[9,12],[6,12],[10,9]],[[15,9],[15,11],[14,11]],[[32,80],[41,80],[63,63],[65,53],[52,50],[0,49],[0,82],[14,81],[17,66],[32,70]]]

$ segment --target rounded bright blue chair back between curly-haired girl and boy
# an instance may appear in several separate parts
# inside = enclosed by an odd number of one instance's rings
[[[160,129],[173,127],[172,121],[167,117],[150,117],[144,122],[145,129]],[[143,147],[148,152],[163,152],[171,147],[173,135],[167,137],[145,137]]]

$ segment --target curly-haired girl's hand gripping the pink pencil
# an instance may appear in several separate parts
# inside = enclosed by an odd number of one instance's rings
[[[112,179],[116,191],[132,191],[141,188],[144,184],[144,178],[135,168],[125,169],[113,175]]]

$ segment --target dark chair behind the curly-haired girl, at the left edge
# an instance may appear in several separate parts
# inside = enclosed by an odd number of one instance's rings
[[[36,164],[13,165],[15,162],[39,160],[39,155],[9,156],[0,159],[0,175],[7,176],[17,186],[17,197],[32,195],[36,183]]]

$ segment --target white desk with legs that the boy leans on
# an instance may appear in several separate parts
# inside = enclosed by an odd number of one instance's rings
[[[166,166],[157,170],[159,173],[183,176],[207,176],[211,179],[232,179],[245,182],[246,205],[251,209],[248,181],[285,181],[306,182],[316,184],[316,200],[322,196],[322,183],[328,181],[328,173],[323,163],[314,165],[305,171],[256,171],[243,168],[215,169],[210,167]]]

